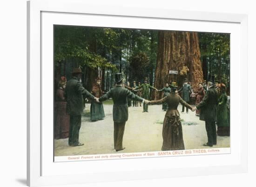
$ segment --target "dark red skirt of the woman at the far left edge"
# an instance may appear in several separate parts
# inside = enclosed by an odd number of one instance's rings
[[[67,114],[67,102],[55,102],[54,114],[54,138],[67,138],[69,132],[69,115]]]

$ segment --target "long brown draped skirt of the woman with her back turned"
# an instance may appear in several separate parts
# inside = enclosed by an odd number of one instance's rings
[[[185,149],[179,116],[166,116],[162,128],[162,151]]]

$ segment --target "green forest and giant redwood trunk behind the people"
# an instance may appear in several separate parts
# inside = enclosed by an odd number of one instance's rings
[[[184,78],[196,89],[209,74],[229,86],[229,41],[228,33],[54,26],[55,85],[61,76],[70,79],[73,67],[81,67],[89,91],[97,76],[108,91],[116,72],[129,82],[148,77],[158,89],[170,79],[181,86]],[[152,93],[153,99],[159,97]]]

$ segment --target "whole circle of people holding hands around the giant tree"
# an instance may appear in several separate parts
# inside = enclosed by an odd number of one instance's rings
[[[185,149],[182,123],[177,107],[182,104],[182,112],[196,111],[200,120],[205,121],[208,141],[203,146],[212,147],[217,144],[216,135],[229,136],[229,104],[226,94],[226,86],[209,76],[204,83],[198,83],[197,92],[194,93],[188,80],[184,79],[183,85],[178,88],[177,82],[172,80],[170,84],[158,90],[148,84],[145,78],[143,84],[134,82],[133,87],[123,84],[121,73],[115,73],[115,87],[107,93],[101,90],[101,79],[95,80],[92,91],[88,92],[81,83],[82,71],[74,68],[72,78],[67,81],[61,77],[59,88],[55,96],[55,139],[67,138],[69,146],[82,146],[79,142],[79,131],[81,128],[81,114],[84,110],[84,100],[91,100],[91,120],[102,120],[105,117],[102,102],[112,98],[113,121],[114,121],[114,149],[121,151],[125,149],[122,145],[124,129],[128,120],[128,107],[137,107],[143,104],[143,112],[148,112],[148,105],[162,104],[162,110],[166,111],[162,127],[162,151]],[[163,92],[161,100],[149,101],[149,89]],[[181,96],[179,95],[181,93]],[[195,107],[188,104],[190,98],[195,98]],[[216,130],[216,125],[218,129]]]

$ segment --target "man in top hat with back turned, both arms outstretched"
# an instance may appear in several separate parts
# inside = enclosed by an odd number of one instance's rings
[[[135,95],[123,86],[123,78],[121,73],[115,73],[116,86],[103,95],[99,101],[108,100],[110,97],[113,99],[113,120],[114,120],[114,148],[115,151],[121,151],[125,149],[122,147],[123,134],[125,123],[128,120],[128,98],[131,100],[137,100],[148,104],[148,100]]]

